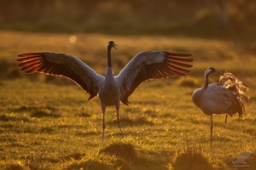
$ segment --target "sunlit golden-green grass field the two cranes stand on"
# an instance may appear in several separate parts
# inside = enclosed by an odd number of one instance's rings
[[[75,37],[74,37],[75,36]],[[121,37],[101,34],[49,34],[1,31],[0,37],[0,169],[234,169],[231,161],[252,150],[256,167],[255,53],[242,42],[189,37]],[[98,73],[106,69],[108,40],[116,74],[143,50],[193,54],[187,77],[143,83],[121,105],[122,139],[114,107],[106,113],[102,148],[102,111],[98,99],[62,77],[25,75],[16,55],[53,51],[73,54]],[[212,146],[210,117],[191,101],[213,66],[231,71],[250,88],[247,113],[214,116]],[[210,77],[218,81],[218,75]]]

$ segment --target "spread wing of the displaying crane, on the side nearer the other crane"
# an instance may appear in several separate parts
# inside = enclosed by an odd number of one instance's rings
[[[129,105],[128,98],[144,81],[167,77],[182,77],[192,67],[191,54],[173,54],[163,51],[146,51],[137,54],[115,77],[120,83],[121,102]]]

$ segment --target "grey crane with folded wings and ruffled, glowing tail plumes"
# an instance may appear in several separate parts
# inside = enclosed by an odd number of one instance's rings
[[[209,76],[216,72],[220,71],[216,71],[214,68],[209,67],[205,71],[204,86],[195,89],[195,92],[192,94],[193,103],[206,115],[211,116],[211,145],[213,130],[212,115],[226,114],[227,116],[227,114],[229,114],[230,116],[233,116],[238,113],[239,117],[241,117],[245,111],[243,103],[244,101],[247,101],[247,96],[242,90],[248,90],[247,86],[230,72],[225,72],[224,75],[220,77],[218,83],[209,84]]]

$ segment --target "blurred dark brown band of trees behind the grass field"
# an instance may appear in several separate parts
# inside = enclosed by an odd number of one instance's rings
[[[2,0],[0,29],[253,38],[253,0]]]

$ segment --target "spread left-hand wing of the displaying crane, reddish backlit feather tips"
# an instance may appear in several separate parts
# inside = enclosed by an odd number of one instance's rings
[[[20,54],[18,57],[20,71],[67,77],[90,94],[89,99],[96,96],[99,84],[104,80],[104,77],[98,75],[90,66],[85,65],[83,61],[72,55],[31,53]]]

